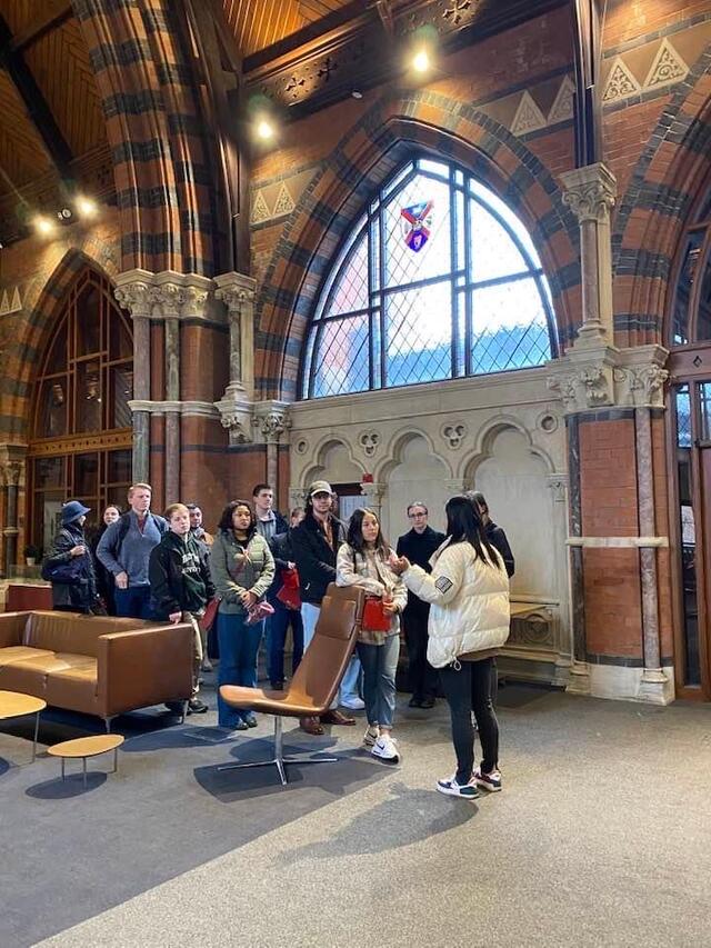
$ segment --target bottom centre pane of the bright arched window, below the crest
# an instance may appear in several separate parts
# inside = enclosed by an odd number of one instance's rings
[[[387,297],[385,373],[389,387],[450,378],[451,312],[449,281]]]

